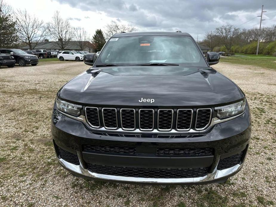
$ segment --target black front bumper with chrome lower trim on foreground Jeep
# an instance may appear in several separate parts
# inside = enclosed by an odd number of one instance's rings
[[[249,106],[243,115],[233,120],[215,125],[211,131],[200,135],[183,136],[183,138],[147,138],[143,135],[124,135],[99,133],[87,129],[80,121],[73,120],[56,110],[54,106],[52,117],[52,135],[58,162],[65,169],[78,177],[94,180],[123,183],[149,184],[203,184],[226,180],[236,174],[243,166],[251,136]],[[163,134],[164,135],[164,134]],[[118,154],[110,152],[90,152],[85,145],[98,146],[131,146],[136,154]],[[158,156],[152,152],[160,148],[212,148],[212,155],[207,156]],[[77,157],[78,163],[63,159],[58,148]],[[153,151],[152,151],[153,150]],[[155,150],[155,151],[154,151]],[[235,157],[240,154],[240,160],[235,165],[225,169],[220,167],[220,160]],[[90,166],[103,166],[120,169],[207,169],[206,174],[195,177],[139,177],[128,174],[112,174],[93,172]],[[227,166],[227,165],[226,165]],[[107,168],[108,169],[108,168]]]

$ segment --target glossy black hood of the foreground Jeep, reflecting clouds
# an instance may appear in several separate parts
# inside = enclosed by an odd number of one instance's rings
[[[58,96],[83,105],[118,106],[206,106],[243,98],[238,86],[211,68],[170,66],[97,67],[73,78]]]

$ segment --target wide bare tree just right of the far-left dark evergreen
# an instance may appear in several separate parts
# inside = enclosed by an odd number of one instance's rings
[[[35,16],[30,16],[26,9],[17,10],[14,16],[16,17],[16,28],[19,40],[27,44],[30,50],[34,49],[47,36],[43,20],[39,20]]]

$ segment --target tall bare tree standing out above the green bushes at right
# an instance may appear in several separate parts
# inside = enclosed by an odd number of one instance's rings
[[[229,52],[231,47],[238,42],[240,29],[234,27],[234,25],[223,25],[217,27],[215,33],[219,36],[221,44],[226,48],[226,51]]]

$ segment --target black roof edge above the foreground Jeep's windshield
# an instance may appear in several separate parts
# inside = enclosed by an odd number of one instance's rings
[[[112,37],[131,37],[131,36],[148,36],[148,35],[163,35],[163,36],[188,36],[192,37],[189,33],[183,32],[131,32],[131,33],[118,33]]]

